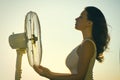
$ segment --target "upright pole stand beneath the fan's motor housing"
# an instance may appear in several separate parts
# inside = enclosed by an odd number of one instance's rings
[[[17,58],[16,58],[16,72],[15,72],[15,80],[20,80],[21,78],[21,64],[22,64],[22,56],[25,54],[25,49],[17,49]]]

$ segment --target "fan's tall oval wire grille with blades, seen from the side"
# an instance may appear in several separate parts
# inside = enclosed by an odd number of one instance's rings
[[[27,22],[26,20],[29,20]],[[35,12],[29,12],[25,19],[25,33],[28,38],[27,55],[31,66],[39,65],[42,58],[41,30],[38,16]]]

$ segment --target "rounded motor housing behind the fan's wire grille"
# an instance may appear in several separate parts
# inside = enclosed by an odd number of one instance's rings
[[[13,49],[27,48],[27,37],[25,33],[12,34],[9,36],[9,44]]]

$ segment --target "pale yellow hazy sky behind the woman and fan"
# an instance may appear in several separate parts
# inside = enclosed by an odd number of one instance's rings
[[[70,73],[65,65],[67,55],[82,41],[75,30],[75,18],[86,6],[98,7],[106,17],[111,41],[103,63],[96,61],[94,80],[120,80],[120,0],[0,0],[0,79],[14,80],[16,50],[8,37],[24,32],[25,15],[37,13],[42,31],[41,65],[51,71]],[[48,80],[29,65],[27,54],[22,59],[21,80]]]

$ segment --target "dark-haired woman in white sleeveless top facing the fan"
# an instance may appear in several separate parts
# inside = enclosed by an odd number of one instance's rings
[[[50,80],[93,80],[95,60],[103,61],[103,52],[110,41],[105,17],[96,7],[86,7],[76,18],[75,28],[80,30],[83,41],[68,55],[66,66],[68,73],[55,73],[43,66],[35,66],[34,70]]]

